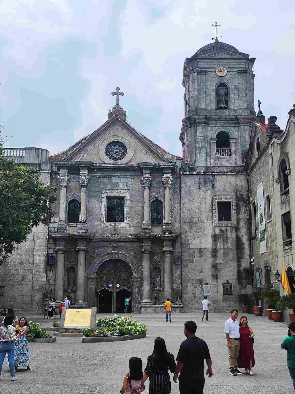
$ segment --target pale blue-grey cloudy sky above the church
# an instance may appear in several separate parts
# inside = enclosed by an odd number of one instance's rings
[[[183,63],[211,42],[215,20],[219,41],[256,58],[255,105],[284,129],[295,103],[294,9],[293,0],[4,0],[6,146],[63,151],[107,120],[119,86],[127,122],[181,155]]]

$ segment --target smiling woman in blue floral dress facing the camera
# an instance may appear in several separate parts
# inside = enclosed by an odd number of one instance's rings
[[[15,355],[14,355],[14,363],[15,363],[15,370],[17,367],[27,368],[31,370],[30,367],[30,357],[29,357],[29,346],[26,335],[30,331],[30,326],[26,320],[26,318],[21,317],[19,320],[19,326],[16,327],[18,330],[18,334],[16,335],[15,340]],[[7,364],[8,359],[4,360]]]

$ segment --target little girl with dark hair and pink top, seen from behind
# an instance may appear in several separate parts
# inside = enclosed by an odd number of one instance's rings
[[[142,383],[142,376],[142,359],[131,357],[129,360],[129,373],[124,376],[120,393],[139,394],[141,391],[144,391],[145,386]]]

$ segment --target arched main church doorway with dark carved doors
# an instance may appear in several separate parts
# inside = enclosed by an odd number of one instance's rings
[[[131,298],[128,311],[132,311],[132,271],[124,260],[107,260],[96,272],[98,313],[118,313],[125,310],[125,298]]]

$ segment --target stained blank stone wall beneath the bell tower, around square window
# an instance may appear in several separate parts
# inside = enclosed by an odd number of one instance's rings
[[[188,173],[187,169],[183,167],[181,176],[183,304],[186,309],[200,309],[203,284],[208,282],[212,309],[228,310],[238,305],[237,296],[249,283],[243,271],[250,258],[247,178],[245,174]],[[213,197],[236,201],[236,227],[213,226]],[[223,295],[222,284],[227,280],[233,285],[232,296]]]

